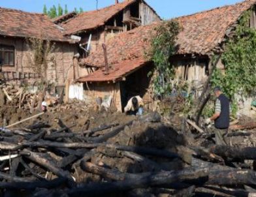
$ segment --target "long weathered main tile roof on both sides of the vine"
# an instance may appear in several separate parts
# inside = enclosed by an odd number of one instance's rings
[[[229,27],[236,23],[242,13],[248,10],[255,1],[244,1],[236,5],[225,6],[197,14],[176,18],[183,27],[178,35],[178,54],[208,55],[218,46]],[[150,38],[157,23],[140,26],[132,31],[120,33],[106,42],[108,63],[129,70],[136,59],[149,61],[145,52],[150,50]],[[131,61],[131,63],[127,63]],[[125,64],[123,64],[125,62]],[[86,65],[103,67],[104,55],[100,48],[84,59]],[[129,68],[123,68],[129,67]],[[101,72],[100,70],[97,72]],[[93,75],[95,81],[100,81],[100,74]],[[88,77],[89,78],[89,77]]]

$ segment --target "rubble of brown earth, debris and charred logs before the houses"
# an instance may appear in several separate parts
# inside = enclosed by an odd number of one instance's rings
[[[21,102],[19,109],[18,93],[22,91],[14,89],[6,87],[6,93],[3,91],[4,97],[8,95],[11,100],[7,98],[1,107],[2,122],[7,115],[20,121],[37,112],[31,114],[26,107],[32,99]],[[211,128],[199,127],[186,118],[181,110],[184,98],[180,98],[180,104],[174,100],[160,104],[162,115],[146,112],[141,117],[72,100],[69,104],[52,104],[48,112],[15,127],[7,128],[1,123],[2,194],[255,194],[255,122],[234,121],[225,136],[228,145],[216,146]]]

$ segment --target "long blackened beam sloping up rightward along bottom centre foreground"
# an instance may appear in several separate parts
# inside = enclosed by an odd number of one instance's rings
[[[91,172],[95,172],[95,174],[103,175],[104,177],[108,177],[108,170],[106,173],[101,174],[101,170],[99,169],[91,170]],[[91,168],[92,169],[92,168]],[[132,175],[133,176],[133,175]],[[164,185],[165,183],[174,183],[174,182],[182,182],[185,180],[193,180],[198,179],[200,177],[207,177],[208,170],[205,168],[200,169],[187,169],[178,172],[159,172],[159,173],[149,173],[136,175],[135,178],[128,178],[123,181],[116,181],[112,183],[95,183],[90,185],[85,185],[79,189],[71,189],[67,190],[67,194],[71,196],[81,196],[81,194],[86,195],[101,195],[108,194],[110,192],[120,192],[125,190],[131,190],[136,188],[147,188],[147,187],[155,187]]]

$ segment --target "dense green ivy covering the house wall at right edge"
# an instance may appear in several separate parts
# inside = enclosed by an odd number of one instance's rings
[[[249,27],[250,14],[250,10],[243,14],[234,37],[227,42],[221,56],[225,72],[216,69],[212,78],[230,98],[238,92],[245,96],[255,92],[256,30]]]

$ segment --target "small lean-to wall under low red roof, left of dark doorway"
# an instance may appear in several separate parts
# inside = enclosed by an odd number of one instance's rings
[[[121,112],[120,83],[84,83],[84,99],[86,103],[95,103],[96,98],[112,96],[112,104]]]

